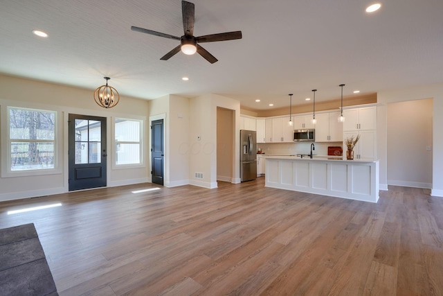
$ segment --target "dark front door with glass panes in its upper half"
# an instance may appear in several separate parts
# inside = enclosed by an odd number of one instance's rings
[[[106,118],[69,114],[69,191],[106,186]]]

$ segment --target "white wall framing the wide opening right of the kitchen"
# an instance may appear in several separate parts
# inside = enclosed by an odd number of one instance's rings
[[[391,91],[383,91],[377,94],[377,99],[381,105],[388,103],[395,103],[401,101],[413,101],[421,100],[424,98],[433,98],[433,156],[432,156],[432,190],[431,194],[435,196],[443,197],[443,83],[435,85],[425,85],[421,87],[411,87],[407,89],[396,89]],[[380,159],[380,183],[388,184],[387,180],[387,134],[383,137],[383,133],[386,132],[387,126],[381,125],[383,120],[380,113],[377,114],[377,139],[378,139],[378,155]],[[386,121],[387,122],[387,121]]]

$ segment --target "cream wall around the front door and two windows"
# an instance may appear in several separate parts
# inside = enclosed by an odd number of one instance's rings
[[[99,86],[99,85],[98,85]],[[0,177],[0,201],[63,193],[68,191],[68,114],[85,114],[107,118],[107,151],[111,147],[111,122],[115,117],[143,119],[148,112],[147,101],[120,96],[120,103],[111,109],[99,107],[93,101],[93,89],[80,89],[24,78],[0,75],[0,137],[6,133],[6,106],[28,107],[57,111],[57,171],[51,175],[8,177],[4,170]],[[147,131],[145,129],[144,135]],[[2,144],[2,150],[6,143]],[[146,145],[146,143],[145,143]],[[147,159],[147,152],[143,159]],[[4,166],[6,155],[0,157]],[[3,163],[2,163],[3,162]],[[113,169],[111,157],[107,163],[108,186],[147,182],[147,166]]]

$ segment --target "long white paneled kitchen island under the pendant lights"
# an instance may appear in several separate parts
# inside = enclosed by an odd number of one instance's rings
[[[265,186],[377,202],[379,161],[266,155]]]

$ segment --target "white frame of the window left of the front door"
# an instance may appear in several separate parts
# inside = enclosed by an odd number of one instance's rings
[[[57,110],[48,110],[42,109],[39,107],[21,107],[19,105],[3,105],[3,108],[0,109],[0,114],[5,120],[1,121],[1,125],[5,126],[3,129],[3,134],[0,134],[2,138],[2,150],[4,155],[1,155],[1,177],[24,177],[24,176],[33,176],[33,175],[53,175],[60,173],[60,166],[58,162],[59,157],[59,141],[58,132],[59,132],[59,112]],[[26,110],[32,112],[46,112],[54,114],[54,139],[11,139],[10,134],[10,110]],[[53,168],[30,168],[25,170],[12,170],[12,157],[11,157],[11,143],[12,142],[20,142],[20,143],[53,143]]]

